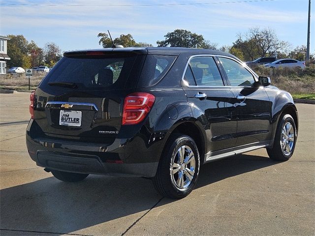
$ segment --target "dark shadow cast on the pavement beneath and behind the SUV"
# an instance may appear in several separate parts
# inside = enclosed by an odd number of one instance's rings
[[[201,167],[196,188],[277,163],[244,154],[209,163]],[[141,211],[144,214],[161,198],[146,178],[94,175],[82,182],[66,183],[48,177],[1,190],[0,225],[7,230],[62,235]]]

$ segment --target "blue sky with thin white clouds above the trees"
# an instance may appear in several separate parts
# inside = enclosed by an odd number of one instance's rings
[[[101,48],[99,32],[130,33],[157,46],[167,32],[187,29],[220,46],[252,27],[274,29],[294,48],[307,43],[309,0],[0,0],[0,35],[23,34],[39,47]],[[314,2],[314,1],[313,1]],[[315,53],[315,5],[311,53]]]

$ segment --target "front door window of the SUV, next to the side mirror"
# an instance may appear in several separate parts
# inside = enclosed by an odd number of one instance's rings
[[[231,86],[251,86],[255,80],[252,74],[240,63],[228,58],[220,58]]]

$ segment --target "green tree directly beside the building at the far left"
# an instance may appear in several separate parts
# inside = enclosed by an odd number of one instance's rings
[[[28,55],[28,40],[21,35],[9,34],[7,37],[7,50],[10,60],[7,61],[7,67],[20,66],[23,68],[31,67],[31,59]]]

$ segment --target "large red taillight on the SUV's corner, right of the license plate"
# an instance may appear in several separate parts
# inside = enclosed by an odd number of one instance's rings
[[[124,101],[122,125],[138,124],[150,112],[156,97],[146,92],[134,92]]]

